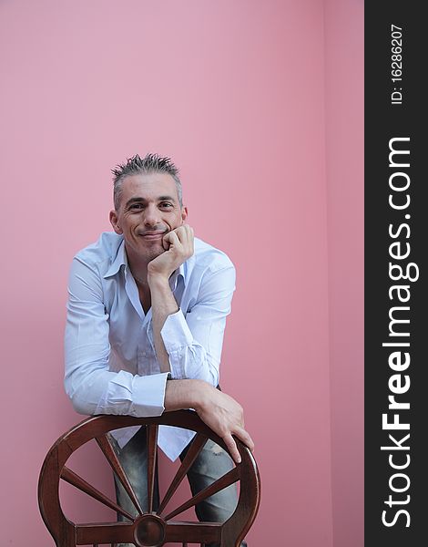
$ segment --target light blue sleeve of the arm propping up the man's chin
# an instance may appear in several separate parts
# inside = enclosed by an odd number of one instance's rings
[[[217,386],[226,317],[234,290],[233,265],[207,272],[201,280],[198,299],[186,315],[181,309],[168,315],[160,334],[173,378],[199,378]]]

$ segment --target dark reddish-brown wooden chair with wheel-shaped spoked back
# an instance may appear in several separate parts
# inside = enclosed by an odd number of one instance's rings
[[[181,462],[174,479],[169,485],[158,511],[153,510],[155,473],[157,465],[158,426],[165,424],[196,431],[186,457]],[[142,511],[127,476],[122,469],[109,431],[128,426],[147,426],[148,432],[148,512]],[[71,454],[82,445],[96,439],[109,465],[117,475],[125,490],[135,505],[138,516],[127,513],[115,501],[79,477],[66,467],[66,461]],[[183,547],[188,543],[199,543],[201,546],[218,542],[221,547],[238,547],[241,540],[249,532],[256,517],[260,504],[260,476],[257,464],[250,453],[238,439],[238,449],[241,463],[235,465],[226,475],[213,482],[208,488],[200,491],[189,501],[182,503],[173,511],[165,511],[168,502],[178,489],[199,451],[207,439],[212,439],[222,449],[226,448],[220,439],[191,410],[166,412],[157,418],[131,418],[127,416],[94,416],[87,418],[65,435],[56,440],[49,450],[40,472],[38,483],[38,501],[40,512],[46,527],[53,536],[56,547],[74,547],[76,545],[111,544],[116,542],[134,543],[138,547],[160,547],[168,542],[180,542]],[[121,522],[87,522],[76,524],[66,518],[62,511],[59,498],[60,480],[72,484],[76,489],[100,501],[113,511],[127,517]],[[176,521],[175,517],[195,506],[199,501],[239,481],[239,501],[236,510],[225,522]],[[167,513],[167,514],[166,514]]]

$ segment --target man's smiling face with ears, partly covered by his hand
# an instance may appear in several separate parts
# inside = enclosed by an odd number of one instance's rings
[[[186,217],[174,179],[158,172],[129,175],[122,184],[118,211],[110,212],[113,229],[123,233],[128,258],[143,263],[164,253],[163,236]]]

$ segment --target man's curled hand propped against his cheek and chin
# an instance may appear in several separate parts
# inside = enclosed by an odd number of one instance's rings
[[[183,224],[166,233],[162,241],[165,253],[159,254],[148,263],[148,284],[154,277],[168,280],[194,253],[193,242],[193,228],[189,224]]]

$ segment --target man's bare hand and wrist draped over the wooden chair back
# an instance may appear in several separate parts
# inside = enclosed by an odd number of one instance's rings
[[[203,380],[169,380],[165,409],[195,408],[199,418],[224,440],[232,458],[239,463],[235,435],[252,451],[254,443],[244,428],[244,413],[239,403]]]

